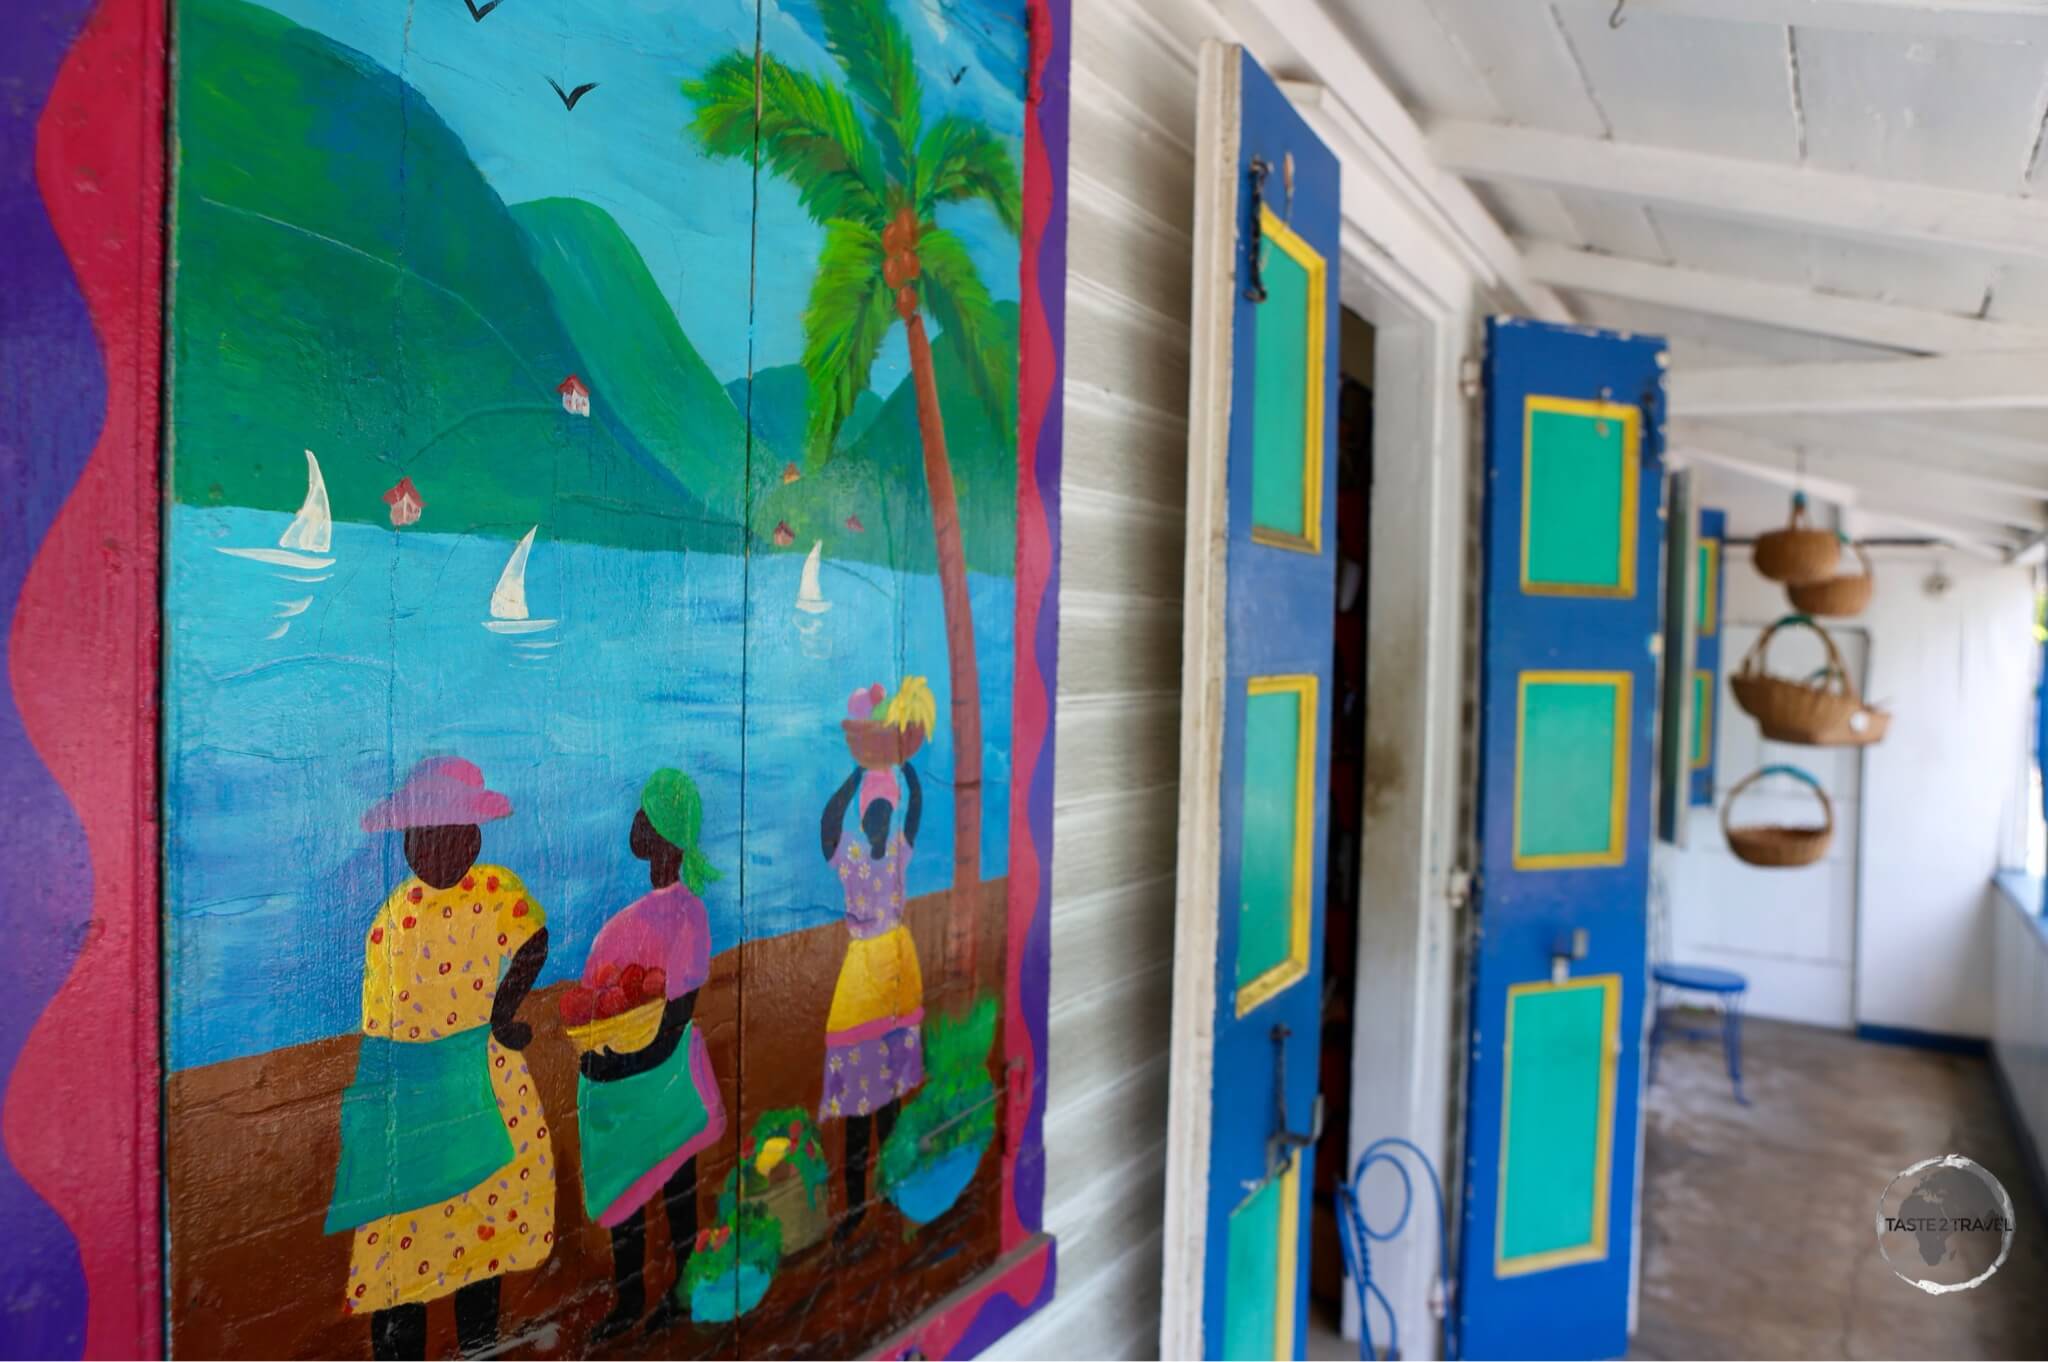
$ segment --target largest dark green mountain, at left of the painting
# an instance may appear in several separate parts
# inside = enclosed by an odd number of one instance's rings
[[[514,217],[416,90],[242,0],[180,6],[178,70],[178,502],[291,510],[311,449],[338,520],[381,520],[385,487],[410,475],[430,530],[541,524],[596,543],[737,547],[737,516],[717,514],[741,498],[743,463],[725,465],[723,485],[717,473],[737,414],[725,401],[723,430],[705,416],[717,412],[707,383],[723,401],[709,373],[643,399],[645,440],[602,389],[590,418],[557,397],[571,373],[639,383],[688,352],[680,330],[664,358],[580,350],[580,332],[602,330],[590,307],[641,291],[631,272],[582,285],[621,268],[602,227],[582,221],[537,252],[557,303]],[[649,303],[668,311],[657,293],[621,305]],[[659,330],[655,317],[637,334]],[[692,446],[678,436],[698,418]]]

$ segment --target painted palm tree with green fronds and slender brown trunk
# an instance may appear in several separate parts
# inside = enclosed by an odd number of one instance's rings
[[[918,61],[887,0],[817,2],[844,88],[768,53],[756,63],[756,53],[731,51],[700,80],[684,82],[684,94],[696,107],[690,127],[705,150],[758,158],[760,168],[797,188],[805,211],[825,229],[803,313],[803,369],[811,383],[805,444],[813,465],[831,457],[889,328],[901,322],[909,332],[950,662],[952,883],[965,889],[981,881],[981,684],[926,313],[938,324],[938,344],[954,352],[977,395],[1001,418],[1001,387],[1016,381],[1016,369],[987,285],[967,246],[934,213],[979,199],[1016,233],[1024,215],[1018,166],[975,119],[942,115],[926,125]]]

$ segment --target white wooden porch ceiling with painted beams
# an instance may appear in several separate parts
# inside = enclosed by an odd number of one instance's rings
[[[2048,526],[2048,0],[1321,2],[1540,283],[1671,338],[1673,451]]]

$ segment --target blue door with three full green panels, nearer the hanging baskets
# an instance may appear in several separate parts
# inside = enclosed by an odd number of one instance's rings
[[[1460,1337],[1628,1348],[1663,342],[1487,328],[1479,938]]]

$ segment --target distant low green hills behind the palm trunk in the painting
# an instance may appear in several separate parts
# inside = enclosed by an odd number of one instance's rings
[[[1016,352],[1018,307],[997,303],[997,344]],[[934,346],[938,406],[946,420],[946,455],[961,500],[961,537],[973,571],[1010,576],[1016,571],[1016,383],[1008,387],[1001,426],[969,387],[952,346]],[[756,375],[752,420],[766,444],[770,432],[801,449],[809,389],[803,369],[788,365]],[[856,408],[856,418],[860,408]],[[852,424],[852,422],[850,422]],[[858,426],[856,426],[858,428]],[[791,436],[795,432],[795,438]],[[786,524],[793,553],[823,541],[834,557],[889,563],[909,571],[936,571],[932,543],[932,500],[924,481],[924,442],[918,436],[918,393],[909,379],[883,401],[858,438],[842,446],[823,469],[803,471],[782,481],[784,461],[774,453],[754,459],[756,545],[772,547],[774,530]],[[799,465],[801,467],[801,465]],[[848,516],[860,522],[854,530]]]

